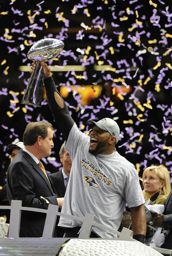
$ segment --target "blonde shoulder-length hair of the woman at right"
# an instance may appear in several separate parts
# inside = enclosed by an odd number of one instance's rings
[[[163,164],[160,164],[159,166],[158,165],[157,166],[149,166],[143,172],[143,176],[142,176],[143,181],[144,181],[145,176],[148,173],[148,171],[155,171],[157,178],[159,178],[159,180],[161,182],[165,181],[165,185],[162,187],[161,194],[159,195],[159,197],[167,198],[171,191],[170,174],[169,174],[168,169]],[[147,192],[145,192],[145,190],[143,190],[142,192],[143,192],[143,196],[144,196],[145,200],[148,200],[149,194]]]

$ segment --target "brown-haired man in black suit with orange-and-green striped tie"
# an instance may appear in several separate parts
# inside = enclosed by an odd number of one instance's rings
[[[22,206],[48,209],[49,204],[62,207],[63,198],[57,198],[42,157],[51,155],[53,144],[52,124],[43,121],[28,123],[23,134],[24,149],[20,149],[7,171],[7,195],[11,200],[22,200]],[[39,165],[38,165],[39,164]],[[20,237],[42,237],[46,214],[23,211]],[[57,237],[55,228],[54,237]]]

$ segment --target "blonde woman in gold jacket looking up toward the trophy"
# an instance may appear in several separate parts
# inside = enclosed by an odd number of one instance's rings
[[[168,169],[163,164],[147,167],[142,180],[146,204],[163,204],[171,191]]]

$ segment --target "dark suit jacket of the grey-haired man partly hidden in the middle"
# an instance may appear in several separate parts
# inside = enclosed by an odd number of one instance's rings
[[[56,173],[49,174],[49,177],[52,180],[52,183],[54,185],[56,194],[59,197],[64,197],[65,192],[66,192],[66,188],[65,188],[65,185],[64,185],[62,170],[60,170]]]

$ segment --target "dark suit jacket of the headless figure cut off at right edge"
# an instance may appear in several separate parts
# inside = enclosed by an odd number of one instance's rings
[[[163,227],[165,230],[170,229],[170,233],[167,235],[161,248],[172,250],[172,190],[164,203],[164,207]]]

